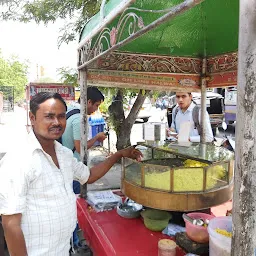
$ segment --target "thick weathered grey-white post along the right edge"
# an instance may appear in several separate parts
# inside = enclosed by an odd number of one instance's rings
[[[256,0],[240,1],[232,256],[256,255]]]

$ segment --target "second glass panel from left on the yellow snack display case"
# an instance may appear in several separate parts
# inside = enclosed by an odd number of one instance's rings
[[[145,171],[145,187],[160,189],[160,190],[171,189],[171,177],[170,177],[171,174],[170,174],[169,166],[147,164],[147,165],[144,165],[144,171]]]

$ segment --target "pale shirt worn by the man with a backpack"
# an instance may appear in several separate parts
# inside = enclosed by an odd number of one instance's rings
[[[188,107],[188,109],[185,112],[182,112],[182,110],[179,108],[179,106],[177,105],[173,111],[172,111],[172,124],[171,124],[171,128],[175,129],[177,133],[179,133],[180,131],[180,124],[183,122],[190,122],[191,123],[191,128],[190,128],[190,141],[191,142],[200,142],[200,135],[198,133],[197,128],[195,127],[194,121],[193,121],[193,116],[192,116],[192,111],[194,109],[194,107],[196,106],[195,103],[191,102],[190,106]],[[178,113],[175,117],[175,124],[176,127],[174,125],[174,115],[176,113],[176,109],[179,108]],[[212,127],[211,127],[211,123],[210,123],[210,118],[209,118],[209,114],[206,111],[206,142],[212,142],[213,141],[213,133],[212,133]],[[201,124],[201,113],[199,111],[199,123]]]

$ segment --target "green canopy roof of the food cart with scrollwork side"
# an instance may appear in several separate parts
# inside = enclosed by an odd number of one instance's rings
[[[105,15],[115,12],[115,7],[118,3],[120,5],[120,2],[122,1],[109,1],[105,6]],[[88,35],[101,22],[98,13],[85,25],[80,42],[85,44],[90,41],[90,49],[98,51],[96,56],[152,24],[182,2],[183,0],[137,0],[89,39]],[[180,57],[216,56],[234,52],[238,49],[238,13],[238,0],[205,0],[127,42],[119,50]],[[84,41],[85,38],[87,42]]]

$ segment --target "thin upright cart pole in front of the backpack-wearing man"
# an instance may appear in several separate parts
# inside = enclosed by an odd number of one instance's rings
[[[202,66],[202,76],[201,76],[201,134],[200,141],[201,143],[206,143],[206,134],[205,134],[205,126],[206,126],[206,87],[207,87],[207,78],[206,78],[206,67],[207,60],[203,59]]]

